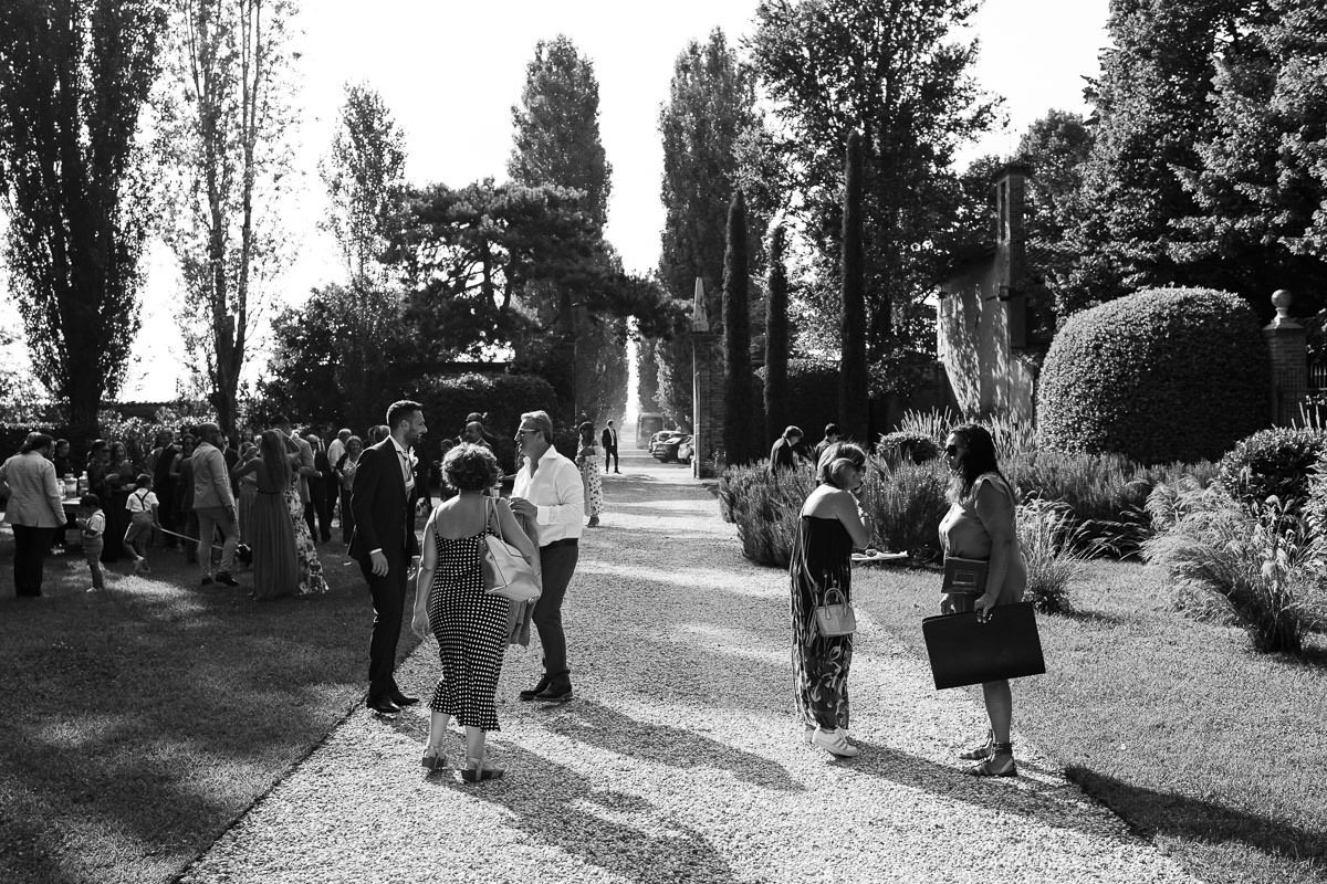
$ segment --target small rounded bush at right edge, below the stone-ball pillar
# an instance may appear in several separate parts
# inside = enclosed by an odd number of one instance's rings
[[[1308,497],[1308,480],[1324,452],[1327,435],[1320,431],[1259,429],[1221,459],[1221,484],[1246,504],[1261,504],[1275,494],[1282,506],[1298,508]]]

